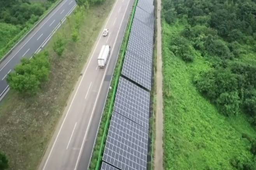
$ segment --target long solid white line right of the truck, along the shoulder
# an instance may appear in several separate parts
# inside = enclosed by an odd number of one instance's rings
[[[127,6],[126,6],[126,9],[125,9],[125,12],[124,12],[122,21],[121,21],[120,26],[119,26],[119,28],[118,28],[117,35],[116,35],[116,39],[115,39],[115,42],[114,42],[114,45],[113,45],[113,49],[115,48],[116,40],[117,40],[117,37],[118,37],[118,35],[119,35],[119,31],[120,31],[120,28],[121,28],[121,26],[122,26],[122,23],[123,23],[123,20],[124,20],[124,16],[125,16],[126,11],[127,11],[127,9],[128,9],[129,3],[130,3],[130,0],[129,0],[128,3],[127,3]],[[112,12],[111,12],[111,14],[112,14]],[[111,14],[110,14],[110,16],[111,16]],[[113,50],[111,51],[109,60],[110,60],[110,58],[111,58],[111,56],[112,56],[112,52],[113,52]],[[102,81],[101,81],[101,83],[100,83],[100,89],[98,90],[98,94],[97,94],[96,100],[95,100],[95,102],[94,102],[93,111],[92,111],[92,113],[91,113],[90,120],[89,120],[88,126],[87,126],[87,128],[86,128],[86,132],[85,132],[85,135],[84,135],[84,139],[83,139],[83,141],[82,141],[82,146],[81,146],[81,149],[80,149],[80,151],[79,151],[79,155],[78,155],[78,158],[77,158],[77,162],[75,163],[75,168],[74,168],[74,170],[77,170],[77,165],[78,165],[78,162],[80,161],[80,158],[81,158],[82,149],[84,149],[84,142],[85,142],[85,139],[86,139],[86,137],[87,137],[89,127],[91,126],[91,120],[92,120],[93,115],[94,115],[94,111],[95,111],[95,108],[96,108],[96,103],[97,103],[97,101],[98,101],[98,97],[100,96],[100,90],[101,90],[101,88],[102,88],[102,84],[103,84],[103,82],[104,82],[104,77],[105,77],[105,75],[106,75],[106,73],[107,73],[108,67],[109,67],[109,64],[107,64],[107,68],[105,69],[105,72],[104,72]]]

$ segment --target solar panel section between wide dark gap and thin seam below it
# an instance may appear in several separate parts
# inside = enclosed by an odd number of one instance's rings
[[[150,94],[146,90],[120,77],[116,92],[114,111],[126,118],[149,127],[149,99]]]

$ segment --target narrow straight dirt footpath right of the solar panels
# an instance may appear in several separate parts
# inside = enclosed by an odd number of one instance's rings
[[[156,36],[156,141],[154,169],[163,170],[163,75],[162,75],[162,39],[161,39],[161,0],[157,0],[157,36]]]

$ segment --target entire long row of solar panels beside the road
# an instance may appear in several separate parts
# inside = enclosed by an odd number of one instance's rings
[[[154,46],[153,0],[139,0],[103,153],[102,170],[146,170]]]

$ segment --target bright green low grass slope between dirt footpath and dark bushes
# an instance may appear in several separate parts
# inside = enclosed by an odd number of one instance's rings
[[[198,92],[193,77],[208,70],[210,62],[193,50],[193,63],[186,63],[169,50],[183,29],[183,24],[163,22],[165,169],[233,169],[232,158],[252,158],[242,134],[255,138],[256,132],[244,114],[228,118]],[[249,55],[240,60],[255,63]]]

